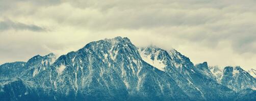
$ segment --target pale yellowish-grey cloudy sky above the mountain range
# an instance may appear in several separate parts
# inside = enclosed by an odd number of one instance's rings
[[[194,64],[256,69],[254,0],[0,0],[0,64],[129,37]]]

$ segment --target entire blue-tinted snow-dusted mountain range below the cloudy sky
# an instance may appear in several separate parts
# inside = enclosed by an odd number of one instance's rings
[[[1,65],[0,100],[256,100],[251,75],[115,37],[58,58]]]

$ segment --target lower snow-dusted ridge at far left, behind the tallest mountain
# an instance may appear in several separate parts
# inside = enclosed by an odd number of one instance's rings
[[[56,56],[54,54],[49,54],[44,57],[37,55],[31,58],[27,63],[14,62],[3,64],[0,66],[1,80],[16,78],[30,79],[41,71],[49,68],[55,60]]]

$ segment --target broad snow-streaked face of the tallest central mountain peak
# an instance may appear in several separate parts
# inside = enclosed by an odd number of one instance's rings
[[[57,100],[189,100],[169,75],[142,61],[137,47],[121,37],[63,55],[31,81],[45,93],[54,89]]]

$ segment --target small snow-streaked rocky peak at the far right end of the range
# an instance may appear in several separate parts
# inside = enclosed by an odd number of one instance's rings
[[[240,67],[225,67],[221,84],[226,85],[235,91],[240,91],[246,88],[256,88],[255,79]]]

